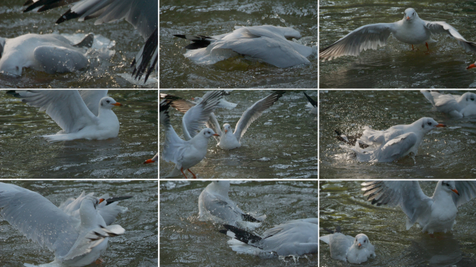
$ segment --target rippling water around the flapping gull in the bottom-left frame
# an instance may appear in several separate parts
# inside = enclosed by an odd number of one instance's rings
[[[69,197],[78,197],[81,192],[94,192],[96,196],[109,193],[111,196],[132,195],[120,202],[127,207],[114,224],[122,226],[123,236],[110,238],[106,252],[101,254],[104,266],[158,265],[157,254],[157,181],[8,181],[40,193],[56,206]],[[6,220],[0,220],[0,265],[3,267],[29,264],[47,264],[54,253],[26,237]],[[97,266],[91,264],[90,266]]]

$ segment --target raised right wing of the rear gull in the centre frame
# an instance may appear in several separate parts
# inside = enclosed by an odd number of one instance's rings
[[[262,113],[270,106],[273,106],[274,102],[278,101],[285,92],[286,91],[284,90],[273,92],[271,95],[260,99],[258,102],[253,104],[253,106],[246,109],[246,111],[241,115],[241,118],[239,118],[235,132],[233,133],[238,142],[241,139],[241,136],[246,133],[246,130],[250,127],[251,123],[253,123],[257,118],[260,118]]]

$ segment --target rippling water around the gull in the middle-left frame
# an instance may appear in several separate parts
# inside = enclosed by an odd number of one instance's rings
[[[157,179],[157,90],[110,90],[119,136],[48,143],[61,128],[38,108],[0,90],[0,177],[36,179]]]

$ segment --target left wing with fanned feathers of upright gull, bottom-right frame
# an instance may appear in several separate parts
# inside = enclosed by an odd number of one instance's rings
[[[399,206],[408,217],[408,225],[413,225],[420,214],[431,208],[433,200],[423,193],[418,181],[367,181],[362,183],[362,191],[372,204]]]

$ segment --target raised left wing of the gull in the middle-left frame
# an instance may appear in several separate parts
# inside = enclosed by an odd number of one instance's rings
[[[99,120],[84,104],[78,90],[11,90],[7,93],[46,111],[65,133],[77,132]]]

